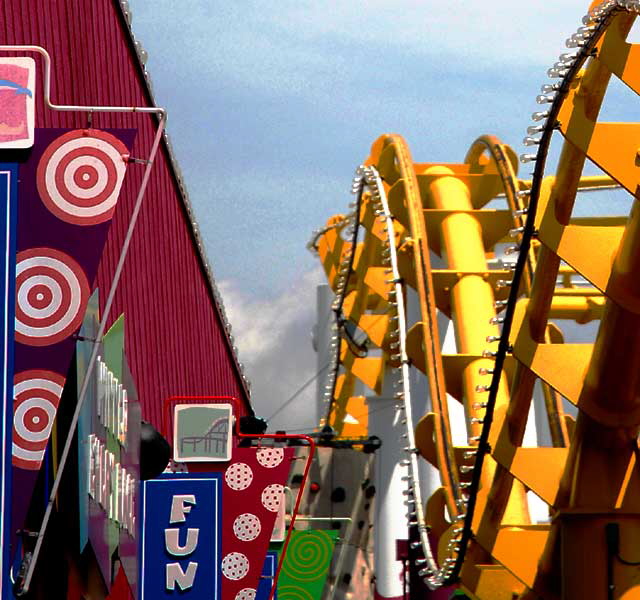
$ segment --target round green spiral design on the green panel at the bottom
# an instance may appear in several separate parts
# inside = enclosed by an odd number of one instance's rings
[[[294,581],[314,581],[326,575],[333,539],[325,531],[295,531],[282,570]]]

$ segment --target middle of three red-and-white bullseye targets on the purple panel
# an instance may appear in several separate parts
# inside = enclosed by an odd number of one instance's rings
[[[48,346],[82,323],[91,293],[82,267],[52,248],[32,248],[16,259],[16,341]]]

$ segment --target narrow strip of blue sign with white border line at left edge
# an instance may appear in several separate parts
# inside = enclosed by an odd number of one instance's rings
[[[13,335],[15,322],[16,281],[16,213],[18,197],[18,166],[0,163],[0,246],[3,249],[0,267],[0,360],[2,361],[2,459],[0,461],[0,600],[13,598],[9,546],[11,538],[11,443],[13,432]]]

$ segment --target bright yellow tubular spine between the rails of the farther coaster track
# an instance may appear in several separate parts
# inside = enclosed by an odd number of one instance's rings
[[[424,202],[425,208],[436,208],[450,211],[471,211],[469,188],[463,181],[453,175],[448,167],[429,167],[425,175],[433,175],[428,185]],[[451,290],[451,313],[456,334],[458,353],[481,356],[483,351],[491,347],[488,336],[499,336],[496,325],[490,323],[496,316],[494,293],[491,284],[485,281],[482,273],[488,271],[482,230],[477,219],[469,212],[454,212],[445,217],[441,226],[441,242],[446,253],[447,267],[459,271],[460,278]],[[477,273],[477,274],[476,274]],[[493,345],[497,348],[497,344]],[[476,386],[487,385],[490,378],[480,375],[480,369],[492,369],[493,361],[479,358],[472,361],[463,371],[464,408],[468,417],[467,430],[470,436],[479,436],[481,425],[472,423],[472,418],[481,419],[484,408],[480,402],[485,401],[487,394],[476,391]],[[496,413],[503,413],[509,401],[509,392],[504,380],[496,398]],[[494,469],[485,465],[482,487],[489,489]],[[503,523],[526,524],[529,522],[529,511],[524,489],[515,484]]]

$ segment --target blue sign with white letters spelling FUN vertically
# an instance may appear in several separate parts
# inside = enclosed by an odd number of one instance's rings
[[[143,481],[139,515],[139,600],[220,600],[222,475]]]

